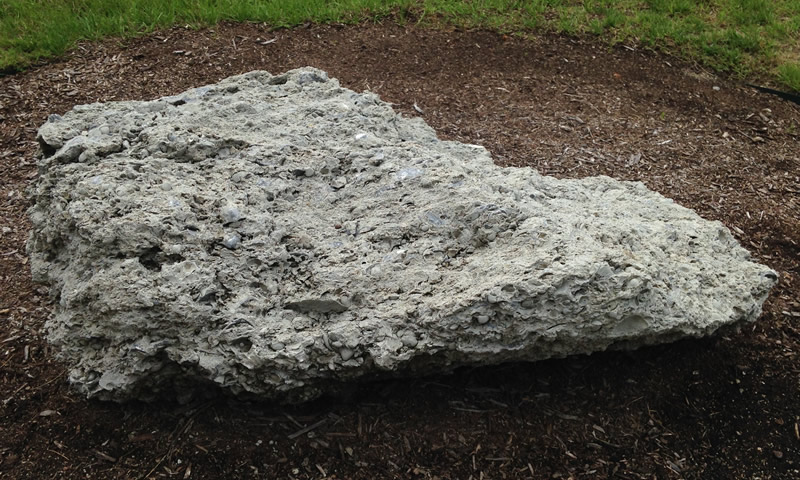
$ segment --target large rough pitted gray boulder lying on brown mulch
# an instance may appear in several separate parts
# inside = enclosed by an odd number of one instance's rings
[[[499,168],[314,69],[78,106],[39,141],[31,267],[92,397],[635,348],[754,321],[777,279],[641,183]]]

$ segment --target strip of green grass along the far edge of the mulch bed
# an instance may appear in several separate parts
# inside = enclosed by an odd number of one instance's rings
[[[0,70],[79,40],[222,20],[291,27],[391,18],[504,33],[596,35],[800,90],[800,0],[0,0]]]

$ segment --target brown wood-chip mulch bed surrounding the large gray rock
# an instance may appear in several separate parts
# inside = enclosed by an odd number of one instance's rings
[[[75,104],[305,65],[407,115],[416,103],[440,137],[502,165],[640,180],[724,222],[781,282],[737,334],[367,384],[300,407],[71,393],[25,257],[36,128]],[[0,478],[800,478],[798,147],[793,104],[564,37],[223,25],[83,45],[0,78]]]

